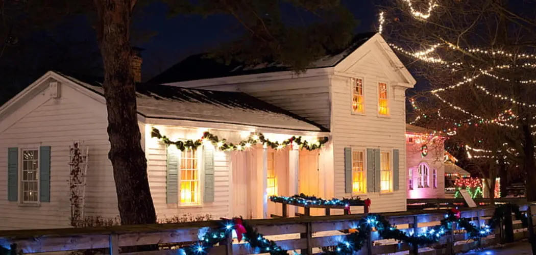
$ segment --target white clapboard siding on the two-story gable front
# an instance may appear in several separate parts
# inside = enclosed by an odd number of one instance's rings
[[[374,50],[374,49],[373,49]],[[377,56],[383,56],[377,54]],[[399,189],[391,193],[374,192],[359,194],[361,198],[371,199],[371,212],[405,211],[406,209],[406,157],[405,153],[405,97],[404,88],[393,87],[393,82],[385,68],[379,65],[373,54],[359,59],[347,73],[354,73],[355,78],[363,79],[364,111],[363,115],[352,114],[352,81],[348,77],[335,76],[332,79],[333,107],[333,155],[334,155],[334,189],[336,197],[350,197],[345,193],[344,148],[357,149],[379,148],[391,153],[399,149]],[[389,67],[387,67],[389,69]],[[392,71],[394,72],[394,70]],[[388,84],[389,116],[378,116],[378,82]],[[395,92],[395,90],[400,91]],[[395,98],[395,95],[398,97]],[[365,165],[366,166],[366,165]],[[354,194],[355,196],[355,194]]]

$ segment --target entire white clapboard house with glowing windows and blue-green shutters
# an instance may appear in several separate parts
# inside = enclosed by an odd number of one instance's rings
[[[371,199],[371,212],[405,211],[405,90],[414,84],[375,33],[299,75],[273,64],[185,59],[137,85],[157,216],[269,217],[281,208],[267,196],[297,193],[359,196]],[[205,141],[181,151],[154,138],[157,130],[177,143],[210,132],[240,148]],[[312,151],[244,144],[260,134],[328,140]],[[69,226],[73,141],[88,148],[84,215],[117,216],[100,79],[48,72],[0,107],[0,229]]]

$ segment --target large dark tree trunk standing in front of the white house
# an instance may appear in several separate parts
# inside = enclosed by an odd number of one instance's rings
[[[147,179],[147,161],[140,142],[136,89],[130,70],[129,24],[135,0],[94,0],[96,27],[104,63],[103,84],[108,109],[108,158],[114,168],[117,205],[122,224],[155,223]]]

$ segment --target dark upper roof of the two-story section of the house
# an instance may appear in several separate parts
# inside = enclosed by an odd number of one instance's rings
[[[311,63],[310,68],[329,68],[343,61],[354,50],[372,38],[376,32],[362,33],[354,36],[350,46],[340,49],[319,58]],[[211,78],[221,78],[230,76],[242,76],[247,74],[269,73],[290,71],[288,66],[278,63],[262,63],[257,65],[244,65],[239,62],[232,62],[228,65],[220,63],[214,58],[207,57],[206,54],[198,54],[185,58],[168,70],[150,80],[152,83],[166,84],[180,81],[201,80]]]

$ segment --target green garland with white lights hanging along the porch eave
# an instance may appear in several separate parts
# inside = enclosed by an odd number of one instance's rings
[[[204,132],[203,137],[197,140],[189,139],[185,141],[172,141],[166,136],[162,136],[162,134],[160,134],[160,130],[156,129],[155,127],[152,128],[151,137],[160,139],[168,146],[175,145],[181,151],[185,151],[186,149],[197,149],[197,147],[203,145],[203,140],[212,142],[214,147],[220,149],[221,151],[243,151],[244,149],[256,144],[262,144],[272,149],[280,149],[285,146],[292,145],[293,143],[299,146],[300,149],[304,148],[308,151],[314,151],[315,149],[319,149],[324,146],[324,144],[329,140],[329,138],[323,137],[318,139],[317,142],[309,143],[306,140],[302,140],[301,136],[293,136],[279,143],[277,141],[270,141],[269,139],[265,138],[262,133],[252,133],[247,139],[233,144],[232,142],[227,142],[225,139],[220,139],[218,136],[214,136],[214,134],[211,134],[210,132]]]

